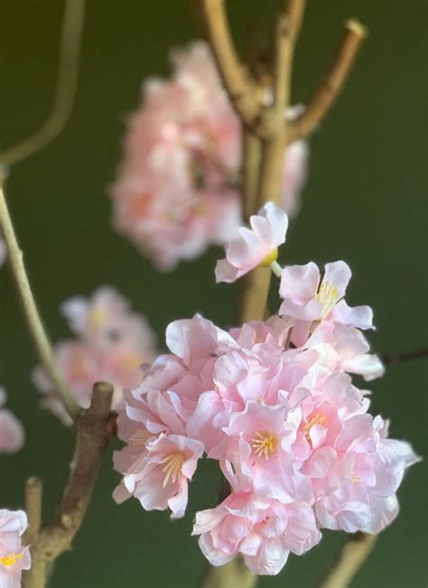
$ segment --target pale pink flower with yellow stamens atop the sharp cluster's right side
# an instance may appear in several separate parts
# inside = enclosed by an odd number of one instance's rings
[[[326,264],[322,278],[312,261],[305,266],[284,267],[279,288],[284,302],[279,313],[300,322],[293,330],[296,344],[302,345],[307,339],[313,321],[329,320],[358,329],[373,329],[371,308],[351,308],[344,300],[350,276],[344,261]]]

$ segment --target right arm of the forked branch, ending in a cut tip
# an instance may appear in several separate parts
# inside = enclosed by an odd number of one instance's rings
[[[349,71],[357,57],[361,42],[367,36],[368,31],[361,23],[349,20],[345,23],[345,31],[340,42],[334,61],[330,65],[321,85],[315,91],[301,117],[290,122],[287,144],[293,143],[302,137],[308,136],[320,125],[327,115],[330,107],[338,98],[343,88]]]

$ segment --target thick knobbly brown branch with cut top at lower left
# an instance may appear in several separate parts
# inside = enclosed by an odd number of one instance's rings
[[[33,534],[32,568],[24,575],[23,588],[44,588],[48,565],[71,548],[79,531],[98,480],[107,443],[115,433],[115,415],[110,413],[112,396],[110,384],[94,384],[90,407],[80,410],[77,416],[75,455],[60,509],[50,524]]]

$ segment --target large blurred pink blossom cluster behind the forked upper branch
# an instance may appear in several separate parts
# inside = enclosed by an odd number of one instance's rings
[[[173,51],[172,67],[172,79],[144,84],[111,191],[116,229],[163,271],[222,245],[241,217],[240,124],[208,45]],[[299,208],[307,157],[302,141],[284,154],[283,206],[290,214]]]

